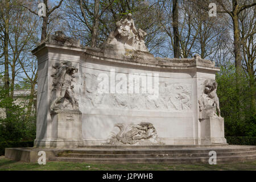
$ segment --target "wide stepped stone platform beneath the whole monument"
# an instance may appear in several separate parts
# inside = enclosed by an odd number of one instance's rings
[[[48,161],[86,163],[205,163],[209,151],[216,151],[217,164],[256,160],[256,146],[164,145],[164,146],[80,146],[74,149],[6,148],[7,159],[38,162],[39,151]]]

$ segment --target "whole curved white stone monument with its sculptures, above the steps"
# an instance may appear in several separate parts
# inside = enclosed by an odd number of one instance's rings
[[[226,143],[214,62],[154,57],[129,14],[100,48],[62,32],[38,57],[35,147]],[[216,114],[217,113],[217,114]]]

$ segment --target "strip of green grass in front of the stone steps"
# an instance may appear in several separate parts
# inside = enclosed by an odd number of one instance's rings
[[[72,162],[47,162],[46,165],[39,165],[38,163],[24,163],[15,162],[14,160],[0,158],[0,171],[115,171],[115,170],[128,170],[128,171],[166,171],[166,170],[189,170],[189,171],[230,171],[230,170],[253,170],[256,171],[256,160],[251,162],[240,162],[230,164],[88,164],[88,163],[72,163]]]

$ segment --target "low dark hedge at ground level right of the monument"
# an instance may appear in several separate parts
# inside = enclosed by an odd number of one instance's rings
[[[256,146],[256,137],[225,137],[228,144]]]

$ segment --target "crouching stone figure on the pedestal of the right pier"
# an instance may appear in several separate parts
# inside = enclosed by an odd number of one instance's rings
[[[199,101],[199,110],[203,111],[205,108],[212,109],[213,115],[216,115],[216,110],[217,110],[218,117],[221,117],[220,104],[219,104],[216,90],[217,90],[217,82],[215,80],[204,81],[203,94],[201,95],[201,101]]]

